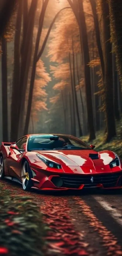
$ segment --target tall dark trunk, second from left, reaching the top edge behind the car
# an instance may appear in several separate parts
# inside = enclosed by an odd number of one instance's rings
[[[18,134],[18,101],[20,96],[19,95],[19,79],[20,79],[21,21],[22,21],[22,1],[19,1],[16,26],[15,26],[15,41],[14,41],[14,71],[13,71],[13,85],[12,85],[10,141],[16,141],[17,134]]]

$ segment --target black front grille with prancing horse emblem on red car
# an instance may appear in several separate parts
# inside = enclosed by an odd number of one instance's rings
[[[79,188],[83,184],[85,185],[84,188],[96,187],[98,184],[102,184],[104,188],[107,188],[116,186],[117,180],[121,175],[122,172],[95,175],[61,174],[60,177],[63,180],[62,186],[67,188]]]

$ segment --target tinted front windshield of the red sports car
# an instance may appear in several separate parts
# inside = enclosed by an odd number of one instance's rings
[[[28,151],[31,150],[91,150],[91,147],[71,135],[31,135]]]

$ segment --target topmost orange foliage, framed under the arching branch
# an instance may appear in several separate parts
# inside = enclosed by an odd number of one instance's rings
[[[48,56],[51,61],[61,63],[72,52],[72,38],[74,40],[74,51],[81,49],[79,38],[79,27],[72,10],[67,9],[60,16],[60,22],[56,23],[56,28],[52,32],[52,39],[49,44]]]

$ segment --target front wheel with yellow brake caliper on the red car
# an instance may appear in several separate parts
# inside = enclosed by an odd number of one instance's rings
[[[33,186],[33,182],[31,180],[33,178],[31,168],[27,161],[24,161],[21,168],[21,181],[22,187],[25,191],[30,191]]]

